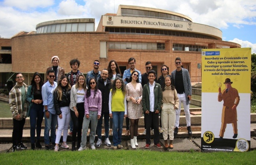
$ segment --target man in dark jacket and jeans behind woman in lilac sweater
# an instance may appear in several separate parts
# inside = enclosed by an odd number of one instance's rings
[[[111,143],[109,141],[109,93],[111,89],[111,83],[108,78],[108,70],[103,69],[101,72],[101,78],[99,78],[97,85],[98,89],[101,91],[102,94],[102,107],[101,107],[101,118],[98,120],[97,125],[97,135],[98,141],[96,143],[96,147],[100,147],[102,144],[102,119],[104,116],[104,127],[105,127],[105,144],[110,147]]]

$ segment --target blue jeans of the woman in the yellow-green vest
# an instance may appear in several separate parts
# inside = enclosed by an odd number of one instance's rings
[[[113,145],[117,146],[121,144],[123,121],[124,121],[124,111],[113,112]]]

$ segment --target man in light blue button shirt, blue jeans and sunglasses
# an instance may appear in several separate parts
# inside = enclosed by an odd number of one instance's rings
[[[44,141],[45,148],[51,150],[54,148],[56,140],[56,125],[57,115],[53,104],[53,92],[57,87],[57,83],[54,81],[55,72],[54,70],[47,71],[48,81],[42,86],[42,98],[44,105],[44,117],[45,117],[45,133]],[[51,130],[52,144],[50,144],[49,131]]]

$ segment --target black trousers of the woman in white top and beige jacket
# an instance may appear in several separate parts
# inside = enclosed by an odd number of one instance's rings
[[[78,117],[76,117],[76,114],[74,111],[70,111],[71,119],[73,121],[73,131],[72,131],[72,141],[76,141],[76,134],[77,134],[77,140],[80,143],[81,140],[81,134],[82,134],[82,126],[83,126],[83,117],[84,117],[84,103],[77,103],[76,108],[78,111]]]

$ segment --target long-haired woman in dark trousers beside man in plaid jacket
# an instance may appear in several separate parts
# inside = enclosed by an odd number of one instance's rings
[[[44,106],[42,99],[42,86],[44,81],[38,72],[35,72],[31,80],[31,85],[27,89],[26,100],[29,104],[30,116],[30,141],[31,149],[42,148],[40,144],[41,125],[44,118]],[[37,141],[35,142],[35,127],[37,128]]]

